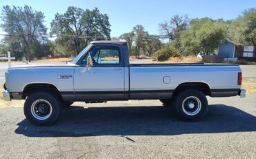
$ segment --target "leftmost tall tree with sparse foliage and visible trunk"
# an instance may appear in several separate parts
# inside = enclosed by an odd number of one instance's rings
[[[31,61],[31,44],[35,39],[39,39],[40,35],[46,33],[46,27],[44,26],[44,14],[42,12],[34,11],[29,6],[15,7],[3,6],[1,19],[3,23],[1,28],[12,35],[10,38],[6,38],[6,42],[11,46],[19,44],[15,41],[20,41],[26,46],[28,52],[27,58]]]

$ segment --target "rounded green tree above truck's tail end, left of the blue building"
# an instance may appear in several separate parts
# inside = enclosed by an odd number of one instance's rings
[[[209,53],[226,38],[227,26],[212,19],[192,19],[189,30],[181,33],[181,47],[188,53]]]

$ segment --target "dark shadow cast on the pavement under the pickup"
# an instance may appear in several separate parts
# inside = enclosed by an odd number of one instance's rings
[[[182,122],[163,106],[71,106],[51,127],[19,122],[15,133],[28,137],[80,137],[94,135],[180,135],[256,131],[256,117],[221,104],[210,105],[198,122]]]

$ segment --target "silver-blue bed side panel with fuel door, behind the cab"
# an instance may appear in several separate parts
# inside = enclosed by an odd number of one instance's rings
[[[179,84],[202,82],[212,91],[239,89],[237,73],[239,66],[193,65],[193,66],[130,66],[130,98],[159,99],[172,97]]]

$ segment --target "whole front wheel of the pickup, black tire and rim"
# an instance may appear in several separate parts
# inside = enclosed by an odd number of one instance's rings
[[[26,99],[24,114],[31,124],[48,126],[57,121],[61,108],[60,98],[57,95],[36,92]]]

